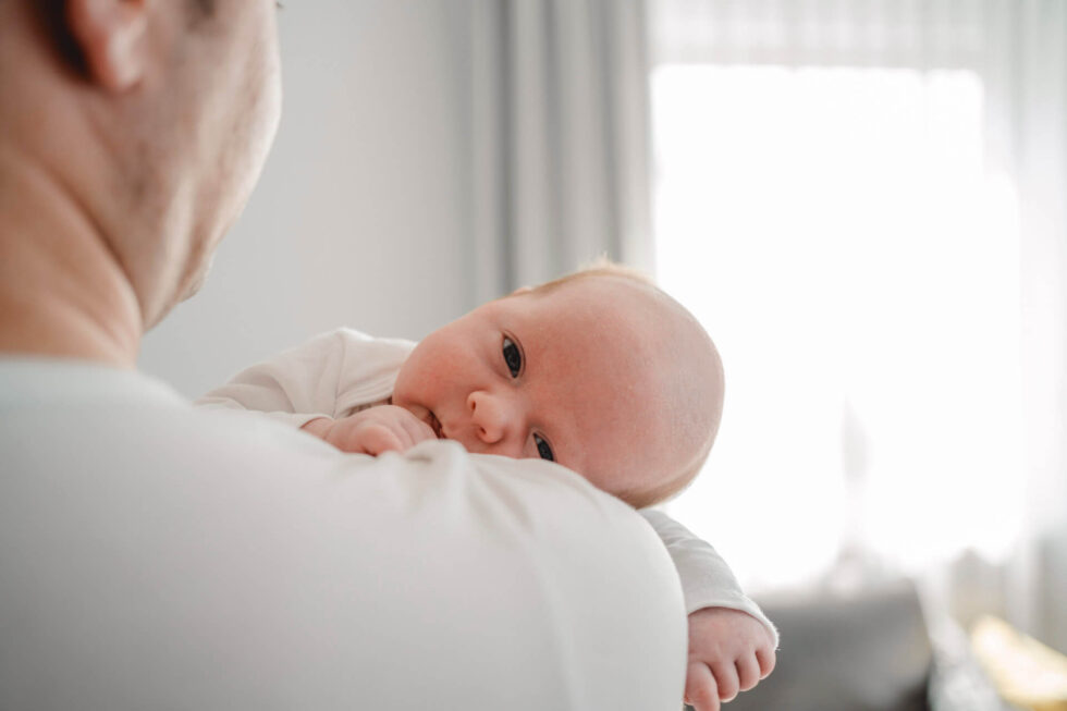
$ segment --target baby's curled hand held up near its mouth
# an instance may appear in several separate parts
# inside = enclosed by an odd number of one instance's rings
[[[403,452],[422,440],[437,439],[429,425],[395,405],[376,405],[341,419],[320,417],[301,429],[342,452],[373,456],[382,452]]]

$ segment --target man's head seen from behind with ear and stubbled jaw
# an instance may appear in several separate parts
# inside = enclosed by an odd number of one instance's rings
[[[102,243],[143,328],[196,290],[262,168],[281,99],[274,13],[0,0],[0,181]]]

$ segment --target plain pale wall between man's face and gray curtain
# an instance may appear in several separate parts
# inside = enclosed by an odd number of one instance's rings
[[[291,2],[279,19],[285,106],[262,180],[201,292],[144,342],[140,367],[189,396],[326,329],[418,339],[471,306],[447,3]]]

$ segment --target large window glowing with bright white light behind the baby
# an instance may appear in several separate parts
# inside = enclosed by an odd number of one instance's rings
[[[750,587],[1015,541],[1019,244],[968,71],[653,72],[660,283],[726,409],[669,506]]]

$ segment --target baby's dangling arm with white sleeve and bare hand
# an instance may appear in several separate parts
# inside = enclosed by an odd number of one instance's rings
[[[718,711],[774,669],[778,633],[711,545],[666,514],[640,512],[666,545],[689,613],[686,702]]]

